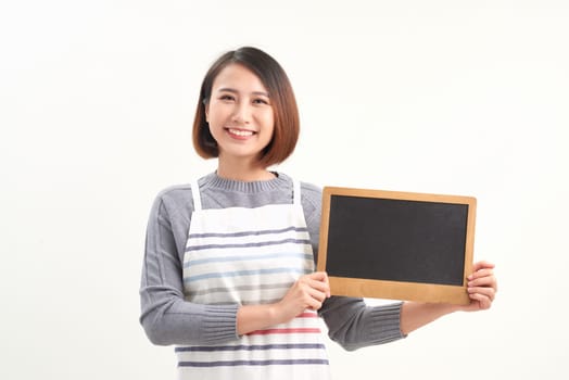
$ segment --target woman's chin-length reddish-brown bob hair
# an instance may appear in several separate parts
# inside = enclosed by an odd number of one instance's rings
[[[205,105],[210,102],[215,78],[230,64],[240,64],[254,73],[269,94],[275,128],[270,142],[260,154],[261,164],[268,167],[283,162],[294,151],[299,140],[300,117],[296,100],[289,78],[280,64],[264,51],[251,47],[243,47],[223,54],[205,75],[193,119],[193,148],[204,159],[219,156],[217,141],[210,132],[205,121]]]

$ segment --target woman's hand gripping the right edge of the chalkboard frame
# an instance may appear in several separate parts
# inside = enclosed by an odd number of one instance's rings
[[[470,304],[460,308],[465,312],[485,311],[490,308],[497,292],[494,264],[478,262],[475,264],[473,270],[475,271],[467,277],[467,291],[470,296]]]

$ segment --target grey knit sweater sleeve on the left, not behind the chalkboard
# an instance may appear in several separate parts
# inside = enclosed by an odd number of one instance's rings
[[[238,305],[201,305],[184,299],[180,246],[185,241],[179,237],[187,236],[187,231],[173,225],[169,214],[176,212],[176,207],[168,210],[166,197],[167,192],[163,192],[156,198],[148,223],[140,284],[140,324],[149,340],[159,345],[237,340]],[[187,218],[190,214],[187,213]]]

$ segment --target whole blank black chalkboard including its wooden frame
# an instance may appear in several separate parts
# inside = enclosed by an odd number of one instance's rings
[[[332,294],[469,302],[476,199],[327,187],[318,270]]]

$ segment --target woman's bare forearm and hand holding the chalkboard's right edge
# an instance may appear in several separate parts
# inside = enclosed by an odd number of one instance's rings
[[[475,271],[468,276],[467,290],[470,296],[470,304],[466,306],[405,302],[401,307],[401,331],[404,334],[408,334],[454,312],[476,312],[490,308],[497,291],[494,264],[488,262],[476,263]]]

